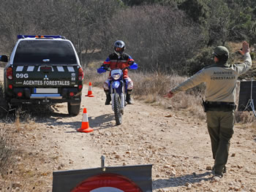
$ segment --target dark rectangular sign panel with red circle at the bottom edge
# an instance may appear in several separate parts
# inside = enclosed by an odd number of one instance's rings
[[[151,192],[152,165],[53,172],[53,192]]]

